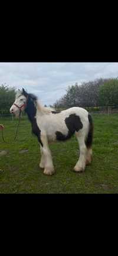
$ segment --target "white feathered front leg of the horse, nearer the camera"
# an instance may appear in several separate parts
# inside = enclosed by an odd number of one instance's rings
[[[53,160],[51,156],[50,148],[48,147],[47,135],[41,133],[41,142],[42,142],[42,155],[44,161],[44,174],[52,175],[54,174]]]

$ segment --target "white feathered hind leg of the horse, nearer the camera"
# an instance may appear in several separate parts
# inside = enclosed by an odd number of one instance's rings
[[[84,135],[81,132],[76,132],[76,137],[80,145],[80,157],[78,158],[77,164],[74,167],[75,171],[84,171],[87,160],[87,147],[84,141]]]

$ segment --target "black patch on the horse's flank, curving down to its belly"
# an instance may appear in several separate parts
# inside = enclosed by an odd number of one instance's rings
[[[76,114],[71,114],[67,118],[65,118],[65,124],[68,128],[68,135],[65,136],[61,132],[57,131],[55,132],[57,140],[59,141],[65,141],[71,138],[71,136],[74,134],[74,132],[79,131],[81,128],[83,128],[83,124],[80,120],[80,117]]]

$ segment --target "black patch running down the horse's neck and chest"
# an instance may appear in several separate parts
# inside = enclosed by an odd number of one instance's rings
[[[34,101],[37,98],[34,95],[28,94],[28,101],[27,101],[27,108],[25,109],[25,112],[28,114],[28,118],[32,125],[32,133],[35,134],[38,138],[38,141],[40,142],[41,146],[43,147],[42,141],[41,141],[41,130],[38,128],[37,120],[35,118],[36,115],[36,108],[34,105]]]

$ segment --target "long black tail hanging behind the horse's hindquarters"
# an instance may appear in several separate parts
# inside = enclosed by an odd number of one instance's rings
[[[93,125],[93,119],[91,118],[91,115],[88,115],[88,119],[89,119],[89,132],[86,138],[86,146],[87,148],[91,148],[92,142],[93,142],[93,129],[94,129],[94,125]]]

